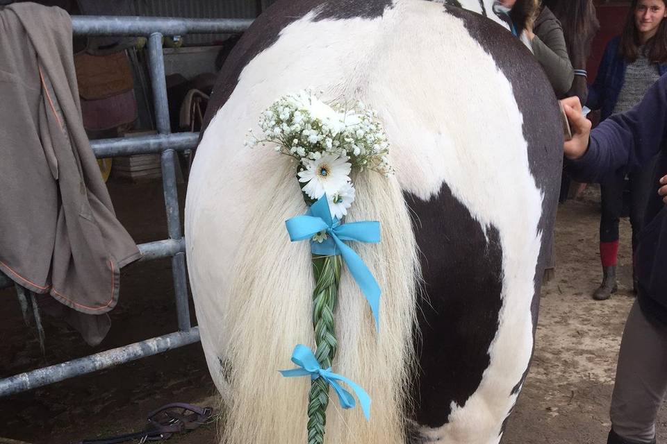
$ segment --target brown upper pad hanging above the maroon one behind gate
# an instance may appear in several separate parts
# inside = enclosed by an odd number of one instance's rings
[[[106,56],[74,55],[79,96],[85,100],[106,99],[133,88],[130,61],[124,51]]]

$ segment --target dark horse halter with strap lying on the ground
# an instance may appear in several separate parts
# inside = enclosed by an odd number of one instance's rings
[[[112,436],[101,439],[85,439],[79,444],[117,444],[139,440],[139,444],[147,441],[162,441],[173,434],[194,430],[211,419],[211,407],[197,407],[184,402],[174,402],[151,411],[148,414],[149,425],[140,432]]]

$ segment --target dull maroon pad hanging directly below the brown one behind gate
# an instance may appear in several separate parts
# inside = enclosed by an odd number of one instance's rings
[[[137,119],[137,101],[134,90],[116,94],[106,99],[81,99],[83,127],[86,130],[109,130]]]

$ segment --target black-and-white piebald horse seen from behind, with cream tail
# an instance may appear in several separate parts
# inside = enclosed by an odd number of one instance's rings
[[[343,268],[334,371],[372,397],[329,403],[330,444],[492,444],[532,356],[561,171],[559,108],[506,29],[423,0],[279,0],[225,62],[190,174],[186,245],[201,343],[222,394],[222,443],[306,441],[314,345],[306,207],[290,158],[243,146],[279,97],[312,87],[378,111],[396,174],[355,178],[352,247],[382,289],[380,331]]]

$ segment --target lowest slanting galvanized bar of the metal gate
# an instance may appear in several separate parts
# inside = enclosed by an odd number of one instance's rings
[[[194,327],[188,332],[165,334],[165,336],[158,336],[124,347],[106,350],[106,352],[73,359],[63,362],[63,364],[38,368],[28,373],[19,373],[19,375],[0,379],[0,396],[13,395],[14,393],[53,384],[53,382],[60,382],[70,377],[85,375],[124,362],[157,355],[172,348],[183,347],[183,345],[197,341],[199,341],[199,327]]]

